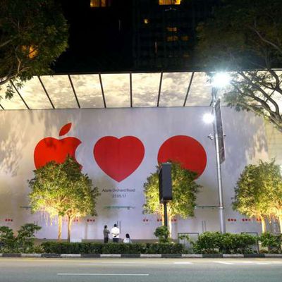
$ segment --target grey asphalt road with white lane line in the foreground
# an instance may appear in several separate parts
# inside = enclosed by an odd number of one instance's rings
[[[282,259],[0,258],[0,282],[281,282]]]

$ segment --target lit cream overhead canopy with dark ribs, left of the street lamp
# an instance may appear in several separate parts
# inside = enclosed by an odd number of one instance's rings
[[[2,110],[209,106],[212,91],[207,75],[197,72],[46,75],[13,87]]]

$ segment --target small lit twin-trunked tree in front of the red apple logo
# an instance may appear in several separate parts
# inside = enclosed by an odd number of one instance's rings
[[[98,188],[80,171],[80,165],[71,157],[62,164],[54,161],[34,171],[29,180],[32,212],[47,212],[51,219],[58,216],[58,239],[61,239],[62,219],[68,218],[68,241],[71,239],[73,219],[96,216]]]

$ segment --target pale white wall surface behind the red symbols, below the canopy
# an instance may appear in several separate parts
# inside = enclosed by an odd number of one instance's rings
[[[121,237],[130,233],[133,239],[154,238],[154,229],[161,222],[159,216],[142,214],[143,183],[156,170],[161,145],[170,137],[185,135],[200,142],[207,154],[207,166],[197,179],[203,186],[197,197],[201,208],[195,209],[192,219],[176,217],[173,237],[179,232],[218,231],[218,211],[211,207],[218,204],[214,142],[207,138],[212,133],[212,125],[202,121],[203,114],[209,111],[209,107],[1,111],[0,225],[17,230],[24,223],[36,222],[42,226],[38,238],[56,238],[56,221],[51,223],[47,214],[32,215],[30,209],[25,208],[29,206],[27,180],[33,176],[34,152],[40,140],[76,137],[81,141],[76,159],[102,195],[97,204],[98,216],[74,222],[73,238],[102,239],[104,224],[112,226],[116,222],[121,226]],[[245,165],[269,158],[264,122],[250,113],[238,113],[226,107],[222,109],[222,116],[226,133],[226,161],[222,164],[226,228],[228,232],[259,232],[259,223],[243,221],[245,216],[234,212],[231,202],[233,188]],[[72,123],[71,130],[59,137],[66,123]],[[104,173],[94,159],[94,145],[106,136],[137,137],[145,148],[140,166],[120,182]],[[194,149],[187,150],[183,158],[189,160]],[[104,151],[106,156],[107,147]],[[135,157],[134,150],[132,154]],[[124,192],[114,191],[117,189]],[[63,237],[66,238],[66,222]]]

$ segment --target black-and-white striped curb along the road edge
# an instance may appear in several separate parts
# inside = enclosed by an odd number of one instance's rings
[[[12,254],[12,253],[0,253],[0,257],[34,257],[34,258],[147,258],[147,259],[156,259],[156,258],[170,258],[170,259],[202,259],[202,258],[256,258],[256,257],[265,257],[265,258],[282,258],[282,254]]]

